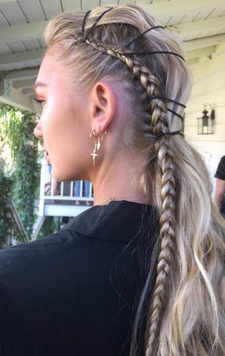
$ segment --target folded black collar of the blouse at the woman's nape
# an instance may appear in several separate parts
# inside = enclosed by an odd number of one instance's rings
[[[154,234],[155,216],[151,205],[110,201],[79,214],[62,230],[76,231],[93,239],[139,243]]]

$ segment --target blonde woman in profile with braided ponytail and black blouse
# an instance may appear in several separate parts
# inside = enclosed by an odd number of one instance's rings
[[[138,6],[58,15],[45,40],[35,135],[94,206],[1,252],[2,354],[222,356],[224,221],[179,131],[179,42]]]

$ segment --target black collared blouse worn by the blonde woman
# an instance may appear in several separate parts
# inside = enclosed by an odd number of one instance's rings
[[[1,250],[0,355],[129,355],[153,215],[150,205],[111,201]]]

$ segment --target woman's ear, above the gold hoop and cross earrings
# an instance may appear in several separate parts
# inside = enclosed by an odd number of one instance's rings
[[[105,82],[95,84],[91,93],[91,126],[94,134],[105,131],[115,113],[115,95]]]

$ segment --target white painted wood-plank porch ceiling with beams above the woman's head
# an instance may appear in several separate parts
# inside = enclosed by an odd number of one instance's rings
[[[144,5],[167,31],[178,34],[190,65],[225,43],[224,0],[0,0],[0,101],[40,110],[33,104],[32,87],[44,54],[42,35],[51,17],[126,3]],[[4,79],[11,83],[11,98],[4,95]]]

